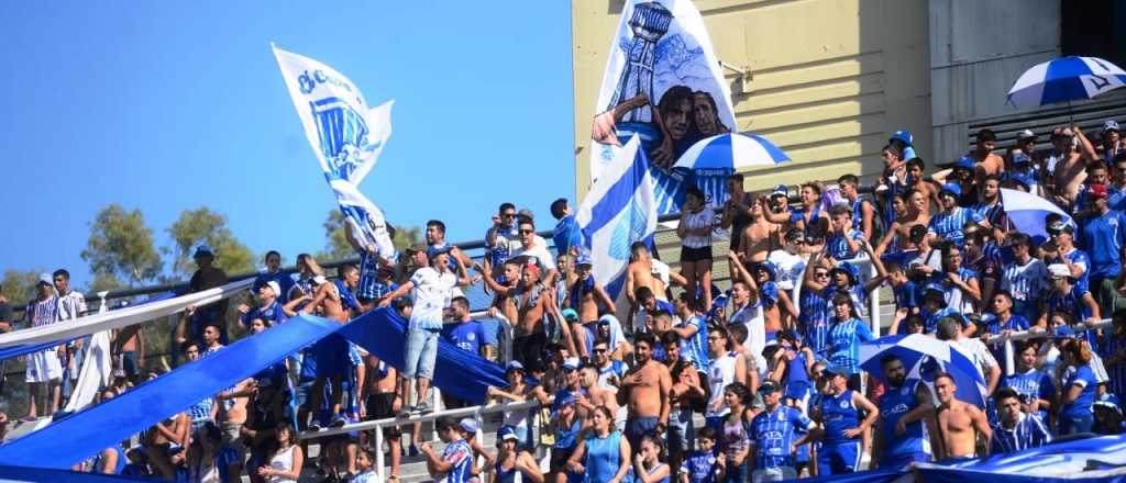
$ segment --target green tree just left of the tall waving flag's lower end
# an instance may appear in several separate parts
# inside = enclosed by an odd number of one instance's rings
[[[226,216],[207,207],[185,210],[168,228],[175,244],[167,249],[173,256],[172,272],[179,279],[190,276],[196,266],[191,259],[196,246],[207,244],[215,250],[215,266],[227,274],[250,272],[254,268],[254,254],[247,248],[226,226]]]

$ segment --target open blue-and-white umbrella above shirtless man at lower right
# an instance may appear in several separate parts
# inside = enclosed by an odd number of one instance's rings
[[[921,380],[929,388],[933,388],[939,371],[949,373],[958,386],[955,398],[985,408],[985,380],[969,356],[954,344],[922,334],[881,337],[860,346],[860,368],[884,381],[879,361],[888,354],[903,362],[908,379]]]

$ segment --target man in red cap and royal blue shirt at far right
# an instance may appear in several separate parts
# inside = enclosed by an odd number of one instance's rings
[[[1088,195],[1093,200],[1092,216],[1083,221],[1079,243],[1090,254],[1089,290],[1099,293],[1105,281],[1111,282],[1121,271],[1121,252],[1126,245],[1126,215],[1111,210],[1106,184],[1092,184]]]

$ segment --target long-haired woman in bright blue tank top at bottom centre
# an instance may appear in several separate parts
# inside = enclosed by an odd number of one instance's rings
[[[568,459],[568,468],[583,475],[584,483],[625,482],[632,453],[629,441],[614,430],[614,414],[608,408],[595,408],[591,428]]]

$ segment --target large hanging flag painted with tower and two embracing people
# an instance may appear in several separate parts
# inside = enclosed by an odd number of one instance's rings
[[[690,0],[626,1],[595,112],[591,180],[637,136],[652,161],[658,212],[678,211],[689,177],[672,165],[697,140],[735,129],[723,70]]]

